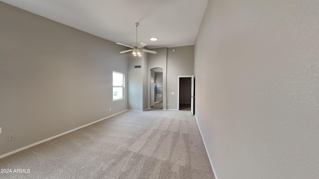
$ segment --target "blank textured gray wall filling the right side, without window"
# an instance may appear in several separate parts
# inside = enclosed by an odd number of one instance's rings
[[[318,0],[208,1],[195,113],[218,179],[318,178],[318,19]]]

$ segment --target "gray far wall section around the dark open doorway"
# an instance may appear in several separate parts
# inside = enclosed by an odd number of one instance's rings
[[[175,52],[172,50],[175,49]],[[167,48],[167,103],[168,109],[177,109],[178,76],[192,76],[194,46]],[[174,92],[174,94],[171,94]]]

